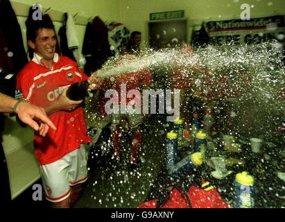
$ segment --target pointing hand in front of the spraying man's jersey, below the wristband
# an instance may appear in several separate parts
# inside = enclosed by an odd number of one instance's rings
[[[34,130],[39,131],[43,137],[48,133],[49,127],[56,130],[51,119],[46,116],[44,108],[31,103],[20,103],[17,107],[17,113],[21,121],[31,126]]]

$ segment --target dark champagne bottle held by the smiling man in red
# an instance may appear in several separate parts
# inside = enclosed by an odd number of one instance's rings
[[[88,86],[87,80],[74,83],[67,89],[67,98],[73,101],[80,101],[88,96]]]

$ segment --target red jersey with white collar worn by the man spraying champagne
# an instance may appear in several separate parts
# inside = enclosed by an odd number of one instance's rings
[[[35,105],[46,107],[53,103],[65,87],[79,81],[87,80],[87,76],[79,71],[76,62],[59,57],[53,58],[53,69],[40,63],[40,56],[34,54],[33,60],[17,75],[16,99],[24,97]],[[45,137],[35,134],[35,154],[40,164],[49,164],[76,150],[80,144],[90,142],[83,108],[72,111],[58,111],[49,115],[57,130],[49,130]]]

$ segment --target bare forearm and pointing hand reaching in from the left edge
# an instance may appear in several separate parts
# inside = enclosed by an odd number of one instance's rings
[[[39,130],[40,135],[45,136],[49,131],[49,127],[56,130],[43,108],[30,103],[19,102],[17,99],[1,93],[0,101],[0,112],[16,112],[21,121],[31,126],[34,130]],[[35,120],[40,122],[37,123]]]

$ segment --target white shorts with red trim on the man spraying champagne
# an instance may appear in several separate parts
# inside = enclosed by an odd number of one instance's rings
[[[46,199],[57,203],[69,197],[71,186],[88,178],[85,144],[60,160],[40,166]]]

